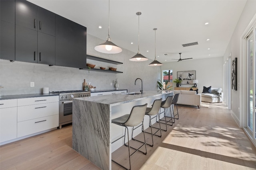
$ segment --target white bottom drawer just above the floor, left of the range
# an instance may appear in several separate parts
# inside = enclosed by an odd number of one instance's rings
[[[17,123],[17,137],[23,137],[59,126],[59,115],[52,115]]]

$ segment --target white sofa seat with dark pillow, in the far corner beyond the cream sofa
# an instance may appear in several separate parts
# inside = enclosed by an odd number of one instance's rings
[[[202,102],[218,103],[223,102],[222,88],[211,88],[211,93],[202,93]]]

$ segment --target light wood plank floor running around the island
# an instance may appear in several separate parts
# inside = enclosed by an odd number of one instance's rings
[[[162,137],[154,136],[148,154],[136,152],[132,170],[251,170],[256,148],[224,104],[208,108],[178,106],[180,119]],[[138,137],[140,138],[140,137]],[[150,143],[151,136],[146,135]],[[132,145],[138,143],[132,141]],[[127,147],[112,158],[128,166]],[[1,170],[97,170],[72,149],[72,125],[0,147]],[[120,168],[112,163],[112,169]]]

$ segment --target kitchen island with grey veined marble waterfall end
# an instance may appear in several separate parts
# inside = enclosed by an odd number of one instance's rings
[[[173,92],[146,91],[144,94],[111,94],[73,99],[73,149],[103,170],[111,170],[111,153],[122,146],[122,140],[115,145],[111,145],[111,142],[124,134],[124,128],[112,124],[111,119],[130,113],[136,105],[147,103],[147,107],[151,107],[154,100],[165,100],[169,95],[173,95]],[[148,127],[148,121],[144,120],[145,128]],[[140,128],[134,131],[134,136],[139,133]]]

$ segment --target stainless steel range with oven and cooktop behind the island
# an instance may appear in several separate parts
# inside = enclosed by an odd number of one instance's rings
[[[72,123],[72,99],[91,96],[91,92],[83,90],[57,91],[59,97],[59,129],[62,125]]]

